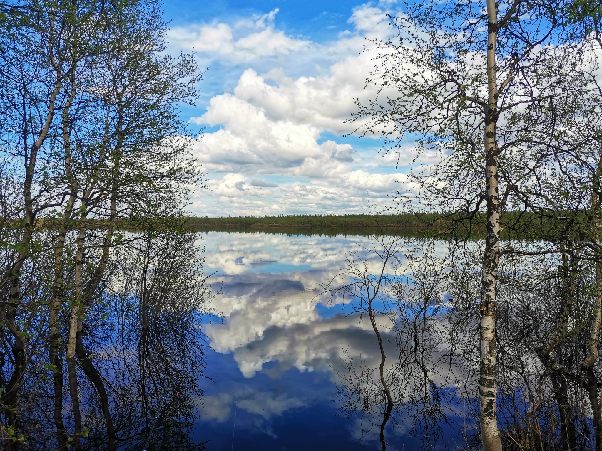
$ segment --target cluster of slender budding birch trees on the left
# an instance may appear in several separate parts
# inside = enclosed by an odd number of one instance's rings
[[[108,449],[115,449],[117,400],[82,337],[84,319],[107,296],[116,247],[141,239],[117,229],[144,230],[145,218],[172,227],[190,187],[202,185],[178,109],[197,98],[202,73],[192,55],[166,54],[166,25],[155,2],[21,6],[18,20],[0,30],[1,158],[11,174],[2,180],[16,187],[2,194],[22,192],[2,217],[10,224],[3,244],[11,252],[2,262],[1,327],[10,331],[11,340],[2,337],[13,350],[1,367],[2,440],[27,448],[36,436],[22,422],[31,414],[22,393],[37,381],[54,392],[48,399],[58,449],[84,446],[82,387],[92,387]],[[52,275],[38,263],[50,261],[49,253]]]

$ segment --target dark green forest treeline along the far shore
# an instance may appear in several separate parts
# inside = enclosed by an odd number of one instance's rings
[[[577,213],[576,223],[586,222],[587,211]],[[79,224],[82,219],[71,219]],[[135,215],[130,218],[86,218],[85,228],[89,230],[116,230],[130,232],[147,230],[179,230],[187,232],[265,232],[305,235],[420,235],[445,238],[484,238],[487,216],[485,212],[404,212],[344,215],[275,215],[275,216],[149,216]],[[36,230],[50,230],[60,227],[57,218],[37,218]],[[508,211],[500,220],[500,238],[518,240],[538,240],[560,233],[563,215],[551,211]]]

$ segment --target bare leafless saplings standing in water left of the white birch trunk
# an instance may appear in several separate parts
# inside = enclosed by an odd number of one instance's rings
[[[433,376],[453,360],[453,354],[439,351],[444,262],[435,257],[432,242],[421,248],[401,237],[375,236],[364,251],[361,257],[350,253],[343,271],[324,285],[330,299],[350,298],[354,310],[368,316],[380,350],[377,368],[344,355],[343,370],[337,370],[340,411],[347,416],[359,412],[367,420],[364,434],[377,425],[382,450],[392,418],[394,423],[411,418],[412,428],[429,431],[425,440],[435,440],[450,410],[442,402],[448,390]],[[396,345],[397,355],[386,366],[383,341]]]

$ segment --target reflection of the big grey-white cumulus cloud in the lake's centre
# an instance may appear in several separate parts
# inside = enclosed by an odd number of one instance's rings
[[[333,273],[312,272],[305,277],[317,284]],[[208,325],[206,333],[217,352],[234,351],[246,378],[255,376],[267,362],[311,372],[337,367],[345,353],[376,361],[378,344],[370,322],[355,314],[322,319],[315,308],[318,302],[315,290],[304,290],[299,280],[282,275],[228,278],[224,295],[216,299],[216,307],[228,314],[222,324]],[[387,333],[389,320],[382,317],[377,322]]]

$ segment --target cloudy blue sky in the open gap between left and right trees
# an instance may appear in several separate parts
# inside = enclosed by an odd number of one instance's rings
[[[208,67],[202,98],[182,111],[211,187],[194,193],[194,214],[364,212],[368,198],[385,206],[402,188],[411,152],[396,169],[347,122],[354,97],[374,96],[364,38],[389,36],[394,2],[178,0],[164,10],[170,51]]]

